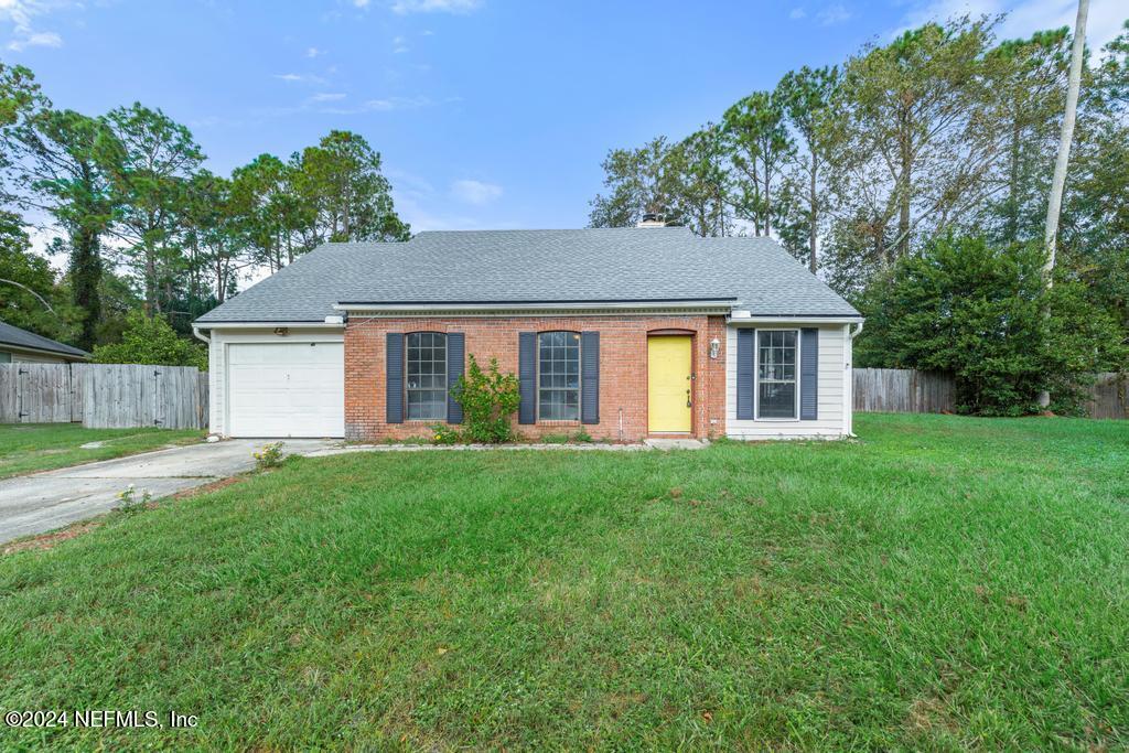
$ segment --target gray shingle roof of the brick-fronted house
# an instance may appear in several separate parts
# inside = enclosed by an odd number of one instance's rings
[[[763,316],[858,316],[770,238],[686,228],[463,230],[321,246],[200,317],[322,322],[338,303],[735,299]]]

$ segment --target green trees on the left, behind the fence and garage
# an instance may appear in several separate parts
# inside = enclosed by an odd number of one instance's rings
[[[0,316],[85,349],[119,343],[137,310],[186,334],[248,268],[410,235],[379,152],[356,133],[260,155],[229,176],[204,160],[158,108],[56,108],[28,69],[0,63]],[[55,231],[49,253],[65,257],[63,274],[32,253],[29,226]],[[133,329],[168,330],[146,326]]]

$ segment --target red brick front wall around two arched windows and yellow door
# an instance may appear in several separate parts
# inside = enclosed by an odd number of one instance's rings
[[[571,330],[599,332],[599,423],[584,424],[595,438],[636,441],[647,436],[647,333],[681,329],[694,332],[693,434],[725,434],[725,319],[720,316],[584,316],[513,318],[366,318],[351,316],[345,326],[345,438],[403,439],[428,435],[431,421],[385,422],[385,334],[388,332],[463,332],[466,352],[485,366],[498,359],[502,371],[517,374],[519,332]],[[716,359],[709,342],[720,341]],[[620,418],[622,413],[622,431]],[[570,434],[578,421],[517,424],[535,438]]]

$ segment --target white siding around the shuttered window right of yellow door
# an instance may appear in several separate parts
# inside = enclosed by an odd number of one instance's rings
[[[744,326],[744,325],[741,325]],[[806,324],[763,324],[760,330],[800,329]],[[737,419],[737,330],[738,325],[726,327],[725,365],[725,426],[726,436],[733,439],[805,439],[840,438],[850,431],[850,413],[847,409],[847,380],[850,351],[847,325],[820,326],[820,383],[819,419],[797,421],[796,419],[764,420]],[[797,361],[798,362],[798,361]],[[798,367],[797,367],[798,368]],[[754,379],[754,389],[758,388]]]

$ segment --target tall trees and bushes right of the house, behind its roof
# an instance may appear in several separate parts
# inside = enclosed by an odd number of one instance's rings
[[[1086,56],[1045,277],[1073,38],[1000,41],[1000,20],[926,24],[613,149],[589,225],[771,235],[868,316],[857,365],[954,371],[969,412],[1076,399],[1073,373],[1127,364],[1129,24]]]

